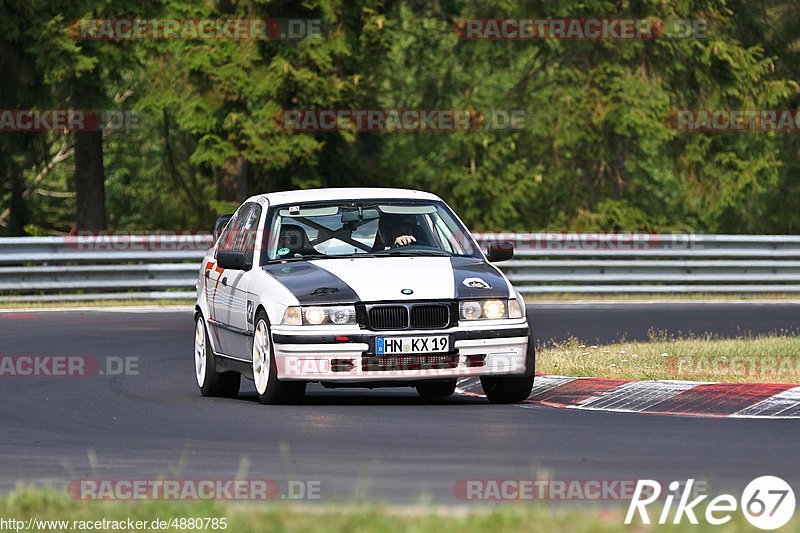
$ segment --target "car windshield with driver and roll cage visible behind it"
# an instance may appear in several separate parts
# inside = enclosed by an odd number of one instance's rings
[[[271,211],[262,264],[383,255],[480,257],[475,241],[442,202],[317,202]]]

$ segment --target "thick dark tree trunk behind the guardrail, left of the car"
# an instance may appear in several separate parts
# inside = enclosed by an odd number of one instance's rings
[[[75,132],[75,229],[106,229],[105,171],[103,169],[103,132]]]

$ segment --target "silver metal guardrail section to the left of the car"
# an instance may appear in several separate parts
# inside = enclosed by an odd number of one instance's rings
[[[210,234],[0,238],[0,301],[193,299]]]

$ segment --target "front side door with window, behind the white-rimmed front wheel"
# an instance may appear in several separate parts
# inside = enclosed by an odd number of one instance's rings
[[[220,274],[217,292],[217,309],[220,322],[220,349],[222,353],[239,359],[250,357],[250,327],[247,288],[249,273],[253,265],[256,234],[261,219],[261,206],[249,202],[237,212],[238,220],[233,231],[233,238],[225,243],[225,250],[243,251],[245,253],[244,270],[226,269]]]

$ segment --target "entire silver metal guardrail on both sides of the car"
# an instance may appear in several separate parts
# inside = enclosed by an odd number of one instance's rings
[[[483,233],[523,294],[796,293],[800,236]],[[210,235],[0,238],[0,301],[193,299]]]

